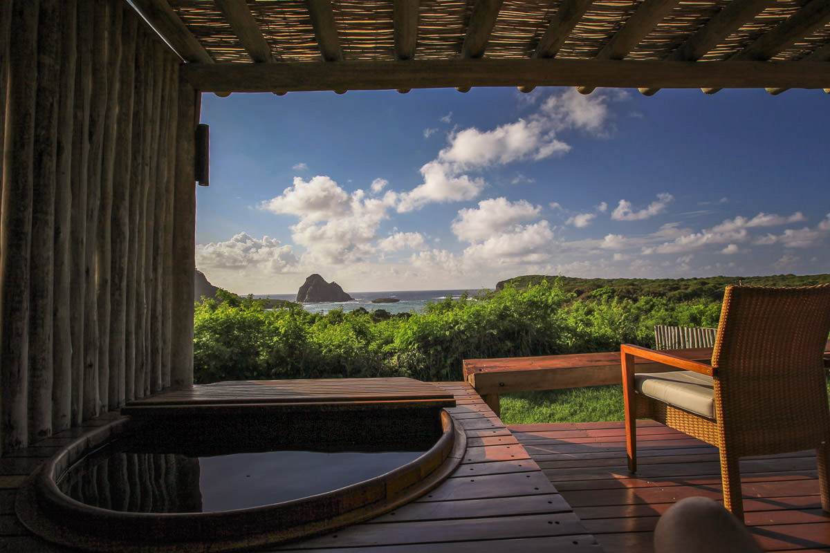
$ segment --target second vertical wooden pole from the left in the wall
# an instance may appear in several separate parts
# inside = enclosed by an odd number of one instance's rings
[[[29,315],[29,441],[51,435],[52,290],[54,288],[57,108],[61,4],[40,0],[32,196]]]

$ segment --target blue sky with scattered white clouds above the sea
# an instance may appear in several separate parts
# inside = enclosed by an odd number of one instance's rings
[[[203,95],[196,262],[236,293],[830,272],[830,95]]]

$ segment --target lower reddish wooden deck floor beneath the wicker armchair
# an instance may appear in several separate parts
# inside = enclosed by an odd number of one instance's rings
[[[653,421],[637,424],[627,472],[623,423],[522,424],[510,431],[606,553],[650,553],[657,518],[688,496],[720,500],[717,449]],[[830,551],[813,451],[740,462],[746,523],[765,551]]]

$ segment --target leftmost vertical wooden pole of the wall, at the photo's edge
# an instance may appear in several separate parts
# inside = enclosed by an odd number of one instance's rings
[[[37,1],[14,2],[0,222],[0,432],[2,452],[27,445],[29,250],[37,89]]]

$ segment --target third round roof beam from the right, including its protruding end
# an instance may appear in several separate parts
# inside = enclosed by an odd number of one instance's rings
[[[706,56],[727,36],[743,27],[753,17],[774,3],[775,0],[733,0],[717,12],[706,25],[697,30],[679,48],[666,57],[667,61],[697,61]],[[642,94],[651,96],[660,89],[640,89]]]

